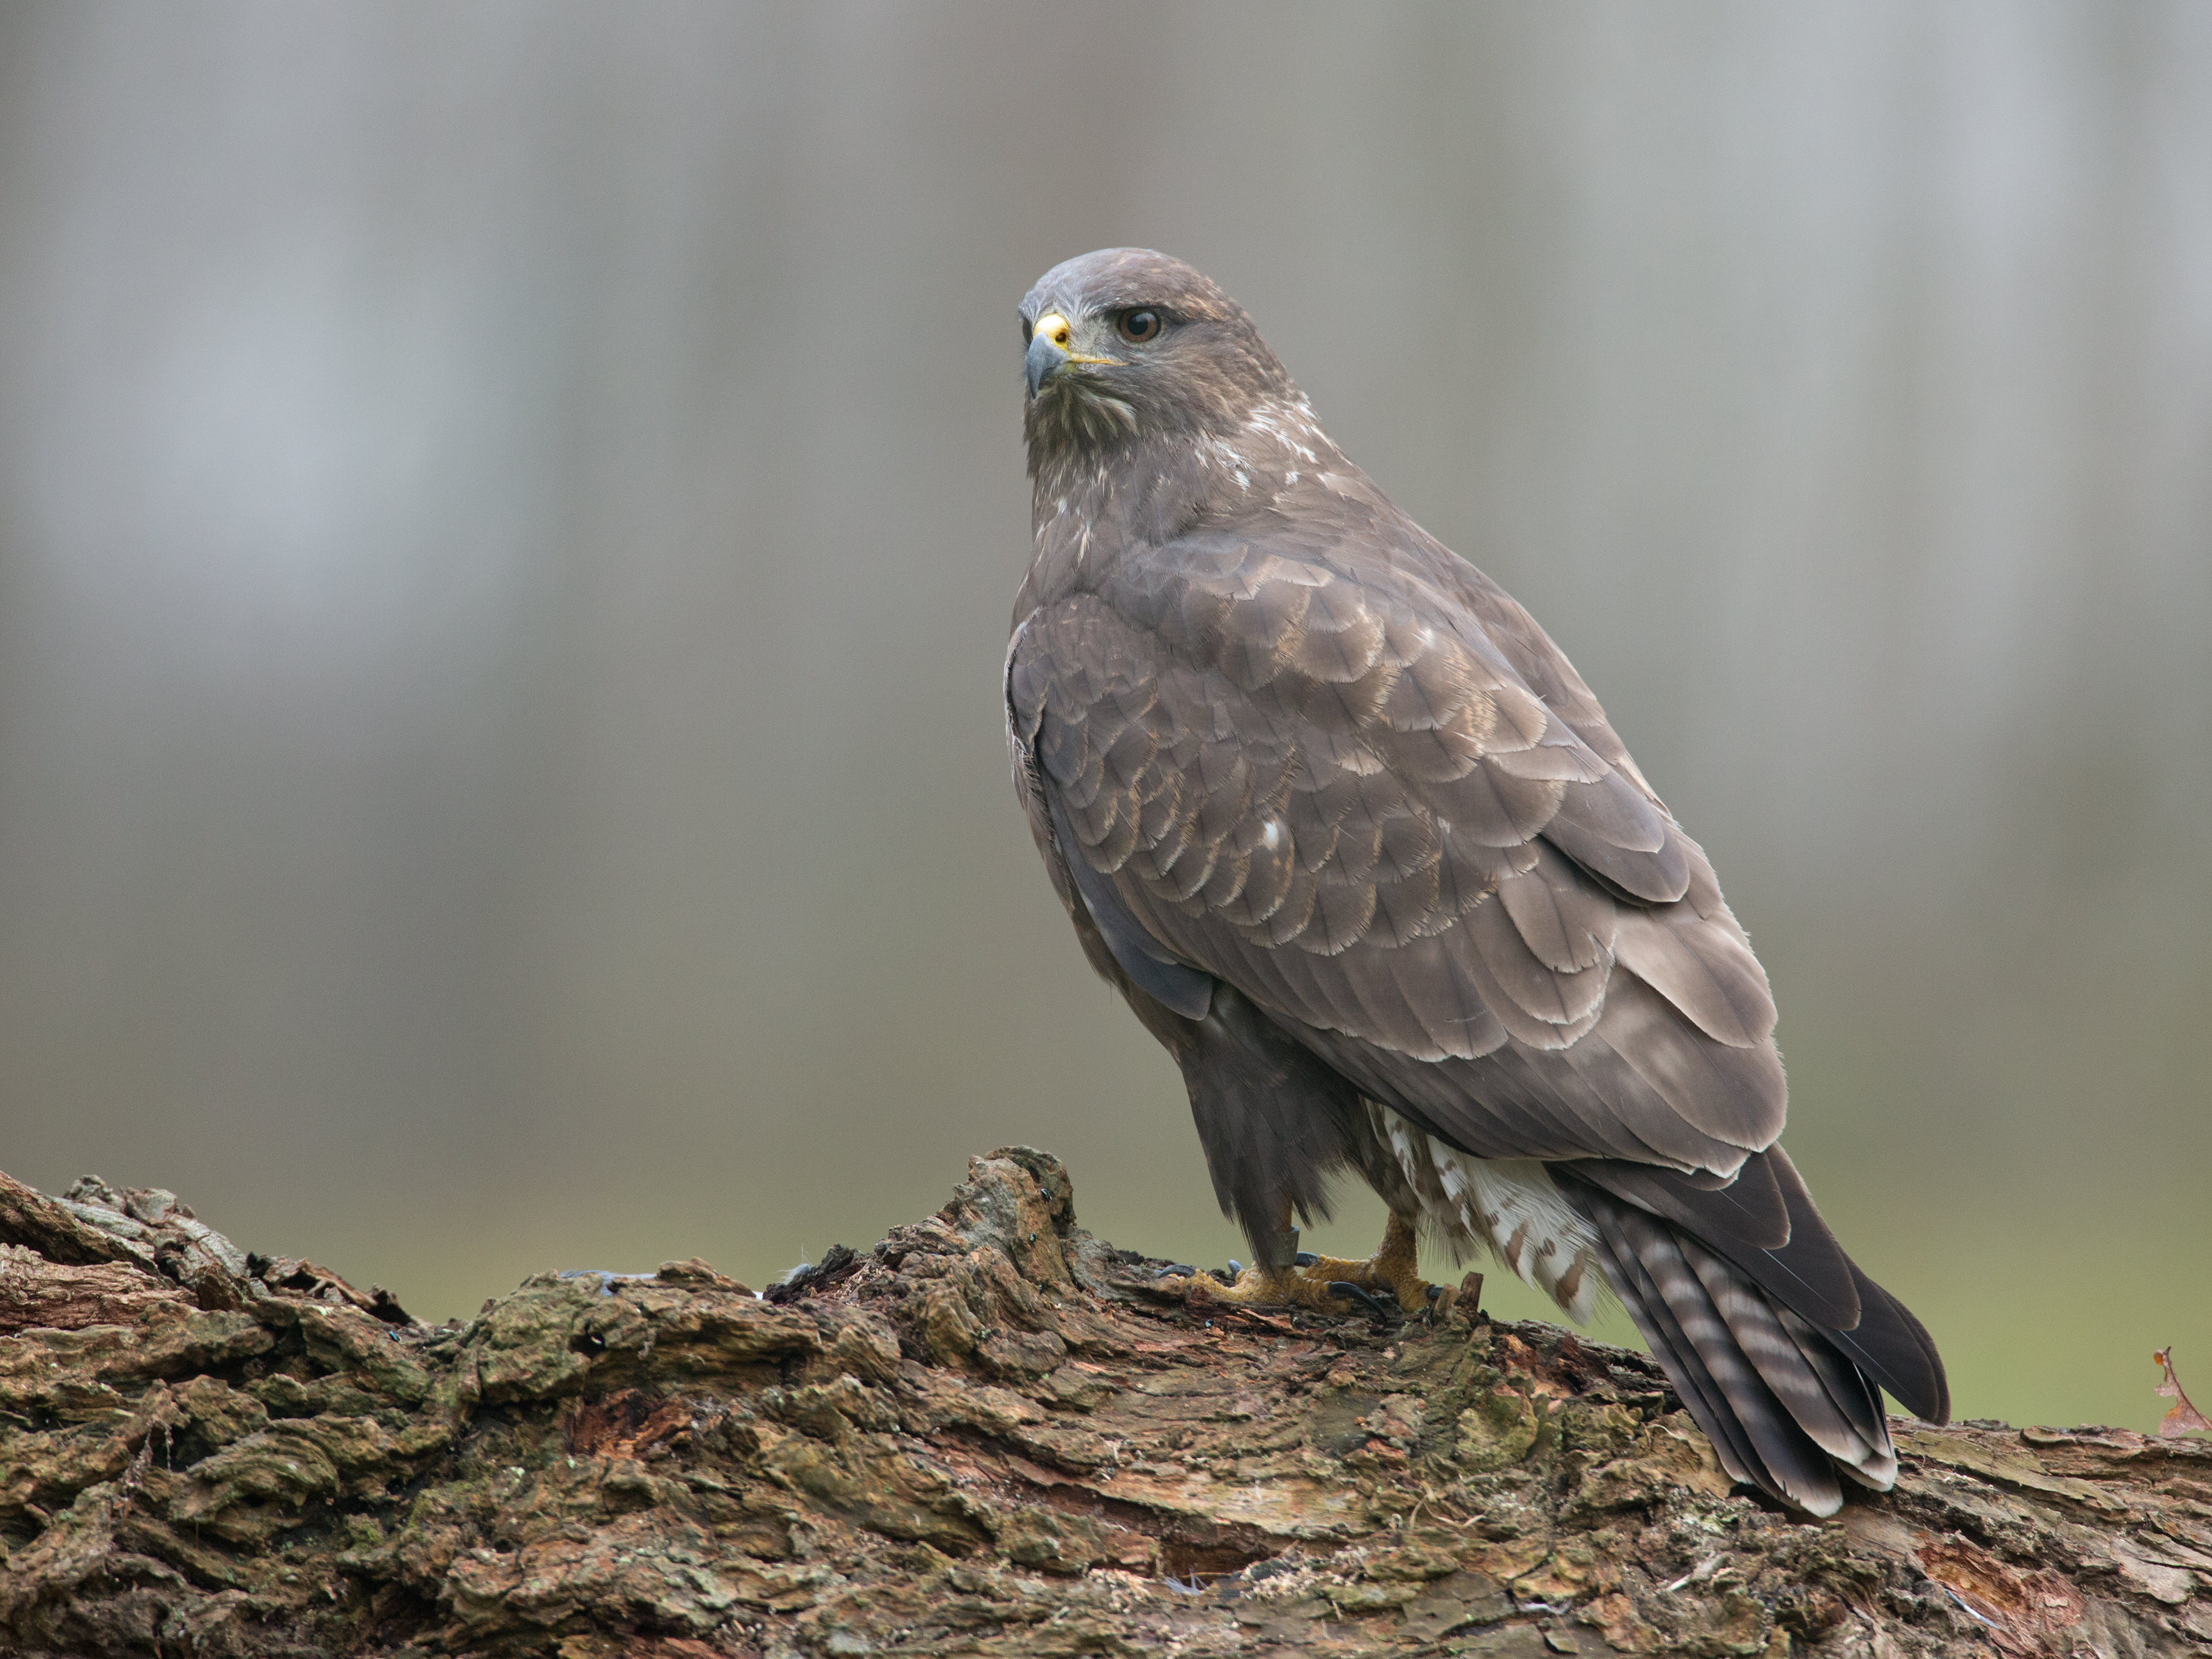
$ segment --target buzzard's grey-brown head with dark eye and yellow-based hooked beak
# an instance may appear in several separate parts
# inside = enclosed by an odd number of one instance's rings
[[[1296,396],[1274,352],[1212,279],[1148,248],[1053,265],[1022,301],[1022,431],[1053,451],[1223,431]]]

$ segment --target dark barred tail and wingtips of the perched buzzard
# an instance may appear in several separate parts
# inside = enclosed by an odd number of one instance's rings
[[[1736,1480],[1814,1515],[1840,1478],[1898,1473],[1880,1389],[1951,1413],[1942,1358],[1896,1296],[1843,1254],[1774,1146],[1728,1186],[1650,1166],[1553,1166],[1597,1228],[1606,1281]]]

